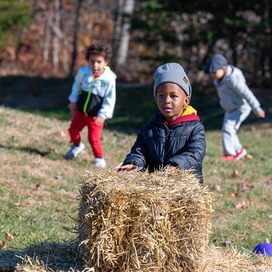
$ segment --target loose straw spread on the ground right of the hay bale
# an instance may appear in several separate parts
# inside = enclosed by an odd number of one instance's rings
[[[239,253],[234,248],[210,246],[203,258],[203,270],[209,272],[272,272],[272,259]]]

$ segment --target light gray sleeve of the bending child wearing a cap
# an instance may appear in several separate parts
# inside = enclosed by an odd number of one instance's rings
[[[233,77],[230,77],[229,87],[247,101],[255,114],[262,109],[259,101],[253,92],[248,88],[242,71],[239,71],[239,73],[235,73]]]

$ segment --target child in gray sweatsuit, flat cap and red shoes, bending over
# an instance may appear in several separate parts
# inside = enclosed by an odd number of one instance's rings
[[[242,71],[232,65],[220,54],[214,55],[207,63],[206,74],[214,79],[221,107],[226,111],[222,126],[222,160],[236,161],[243,158],[247,151],[237,136],[241,123],[251,110],[259,118],[265,117],[260,103],[246,84]]]

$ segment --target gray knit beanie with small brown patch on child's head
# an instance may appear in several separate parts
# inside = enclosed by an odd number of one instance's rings
[[[192,87],[190,81],[184,72],[184,69],[178,63],[166,63],[157,68],[155,72],[155,84],[153,93],[157,98],[157,90],[162,83],[171,82],[180,86],[184,92],[191,97]]]

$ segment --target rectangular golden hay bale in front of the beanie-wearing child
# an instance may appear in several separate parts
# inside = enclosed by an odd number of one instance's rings
[[[198,271],[212,193],[192,171],[98,171],[80,184],[78,236],[95,271]]]

